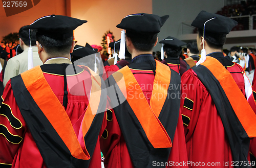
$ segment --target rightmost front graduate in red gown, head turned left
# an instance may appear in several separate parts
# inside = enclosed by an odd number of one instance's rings
[[[186,98],[181,108],[187,156],[193,162],[232,167],[243,160],[246,164],[238,167],[249,166],[250,138],[256,136],[256,115],[247,102],[252,90],[243,68],[222,54],[226,35],[236,25],[206,11],[191,24],[198,28],[201,58],[181,78],[184,86],[190,86],[182,87]]]

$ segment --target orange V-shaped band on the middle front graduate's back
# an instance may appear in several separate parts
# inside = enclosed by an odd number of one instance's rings
[[[158,119],[162,106],[167,97],[167,89],[170,82],[170,69],[168,66],[156,61],[156,76],[151,97],[151,106],[148,105],[144,94],[128,66],[118,70],[123,74],[125,84],[117,83],[123,95],[127,95],[127,102],[138,118],[148,140],[154,148],[170,148],[172,142],[166,130]],[[118,73],[113,74],[117,82]],[[119,81],[119,80],[118,80]],[[131,94],[132,93],[132,94]],[[133,95],[143,95],[143,98],[135,99]],[[161,98],[154,97],[154,94],[161,94]]]

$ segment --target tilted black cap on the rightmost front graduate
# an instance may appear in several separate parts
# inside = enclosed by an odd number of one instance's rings
[[[209,20],[214,17],[215,19]],[[233,27],[238,24],[237,21],[231,18],[218,14],[208,13],[206,11],[201,11],[195,20],[191,23],[191,26],[204,29],[204,23],[205,31],[219,34],[228,34],[233,29]]]

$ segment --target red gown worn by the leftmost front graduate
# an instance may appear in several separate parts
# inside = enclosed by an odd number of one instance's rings
[[[42,65],[42,67],[49,67],[48,65]],[[43,78],[46,79],[47,83],[49,84],[52,92],[56,96],[57,101],[62,105],[63,102],[63,90],[64,90],[64,80],[63,75],[56,73],[56,70],[58,71],[59,64],[51,64],[50,70],[45,71],[43,74]],[[39,67],[39,66],[38,66]],[[35,67],[35,68],[38,68]],[[53,70],[52,70],[53,68]],[[34,68],[33,68],[34,69]],[[31,69],[31,70],[33,70]],[[26,71],[25,73],[27,73]],[[24,73],[24,74],[25,74]],[[82,71],[82,75],[88,76],[90,79],[90,73],[88,71]],[[74,76],[76,77],[76,76]],[[90,82],[89,82],[90,83]],[[91,84],[90,84],[91,85]],[[36,89],[37,90],[37,89]],[[40,92],[40,88],[38,88],[36,94],[45,94],[44,92]],[[5,88],[4,94],[3,94],[3,104],[2,108],[0,110],[0,126],[3,128],[6,128],[6,130],[9,132],[4,132],[3,129],[1,130],[0,135],[0,166],[6,166],[6,167],[47,167],[46,163],[44,162],[38,147],[34,141],[34,138],[32,137],[31,131],[28,128],[27,123],[25,122],[25,119],[22,115],[22,113],[19,110],[19,107],[16,103],[13,88],[11,85],[11,82],[9,81],[7,83],[7,86]],[[38,100],[37,100],[38,101]],[[42,102],[46,100],[41,100]],[[47,100],[49,101],[49,100]],[[51,101],[51,100],[50,100]],[[83,116],[86,114],[87,107],[89,106],[89,99],[86,95],[72,95],[70,93],[70,90],[68,88],[68,105],[66,108],[66,119],[67,121],[70,120],[70,125],[73,126],[73,129],[76,133],[76,136],[80,133],[80,125],[83,121]],[[3,108],[4,107],[4,108]],[[61,107],[61,106],[60,106]],[[54,108],[54,107],[53,107]],[[64,108],[64,107],[63,107]],[[9,109],[9,112],[8,112]],[[65,108],[64,108],[65,109]],[[6,113],[4,113],[4,110]],[[10,113],[11,111],[11,113]],[[8,114],[8,115],[3,115]],[[12,118],[11,122],[8,120],[9,118]],[[61,121],[60,116],[54,115],[53,118],[59,118]],[[105,121],[105,119],[103,119]],[[18,125],[19,128],[12,125],[12,123],[15,123]],[[63,123],[59,123],[63,124]],[[67,123],[66,123],[67,124]],[[101,136],[105,124],[103,122],[102,128],[100,129],[98,137]],[[64,127],[63,127],[64,128]],[[70,128],[72,130],[72,127]],[[65,128],[66,130],[66,128]],[[58,130],[61,132],[61,130]],[[66,130],[67,131],[67,130]],[[75,135],[75,134],[74,134]],[[87,153],[86,147],[82,145],[83,142],[83,136],[77,137],[78,141],[81,145],[81,148],[83,149],[84,153]],[[68,138],[67,141],[71,142],[71,146],[73,144],[72,139],[74,138]],[[99,146],[99,138],[97,138],[96,146],[94,149],[94,153],[91,157],[90,166],[89,167],[101,167],[101,159],[100,159],[100,146]],[[66,141],[66,143],[67,143]],[[78,142],[77,141],[77,142]],[[78,143],[78,144],[79,144]],[[79,146],[79,145],[78,145]],[[72,147],[71,147],[72,148]],[[73,150],[73,149],[71,149]],[[72,151],[71,151],[72,153]],[[73,152],[74,154],[74,152]],[[57,166],[57,165],[55,165]]]

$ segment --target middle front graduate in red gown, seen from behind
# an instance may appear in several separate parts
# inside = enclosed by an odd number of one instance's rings
[[[179,110],[180,76],[152,56],[168,17],[131,14],[117,25],[123,29],[119,55],[124,56],[126,36],[132,63],[105,81],[115,87],[120,102],[107,111],[108,122],[100,140],[105,167],[169,167],[187,161]],[[119,77],[125,83],[116,83]],[[110,96],[111,104],[114,98]]]

